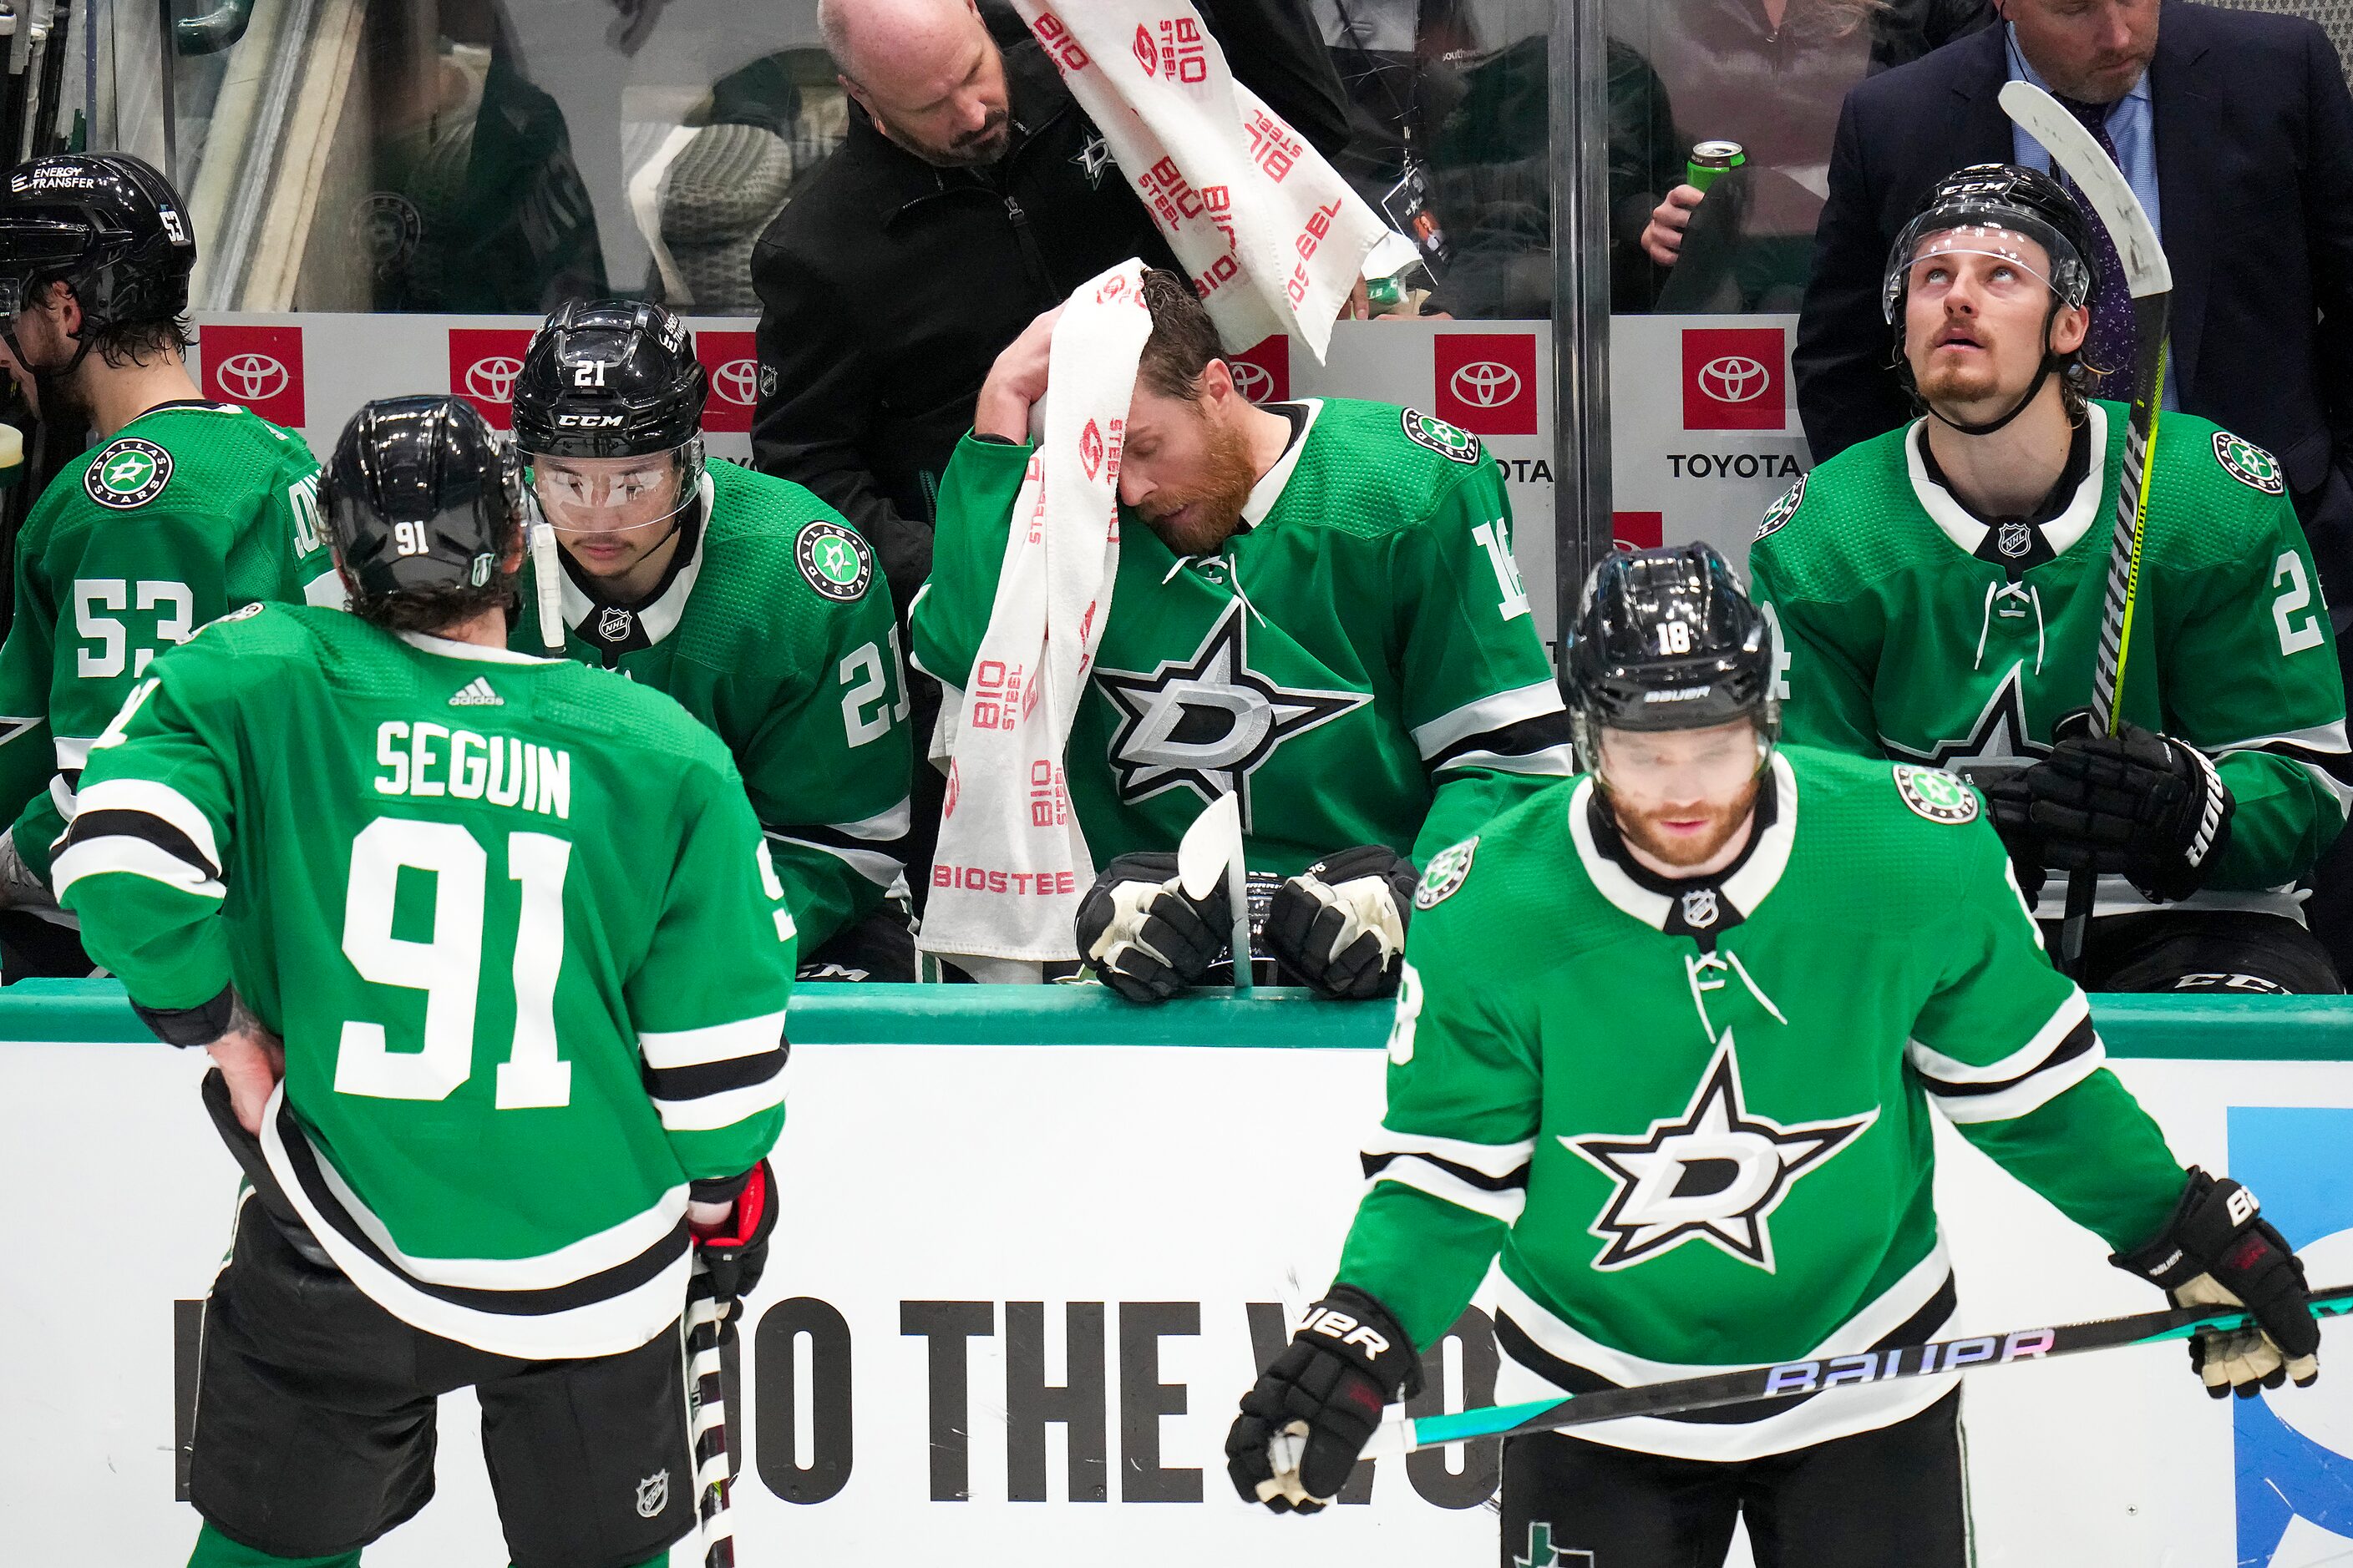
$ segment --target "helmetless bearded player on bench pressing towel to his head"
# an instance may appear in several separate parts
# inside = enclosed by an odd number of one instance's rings
[[[1414,860],[1572,771],[1567,715],[1478,440],[1353,400],[1254,407],[1174,273],[1120,465],[1120,571],[1071,729],[1071,804],[1104,870],[1078,950],[1155,1001],[1226,950],[1226,896],[1188,900],[1176,839],[1235,792],[1266,947],[1334,997],[1398,985]],[[915,663],[962,686],[995,599],[1054,313],[981,386],[941,482]]]

